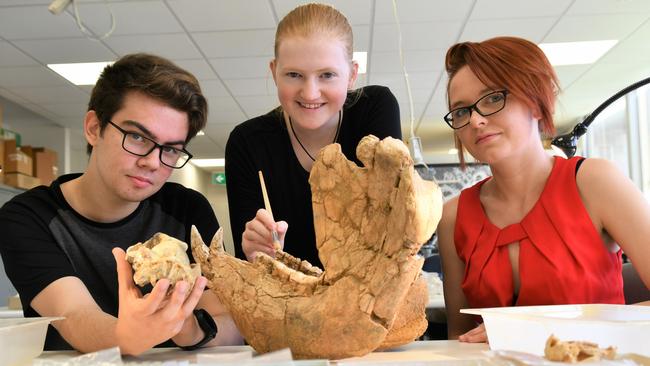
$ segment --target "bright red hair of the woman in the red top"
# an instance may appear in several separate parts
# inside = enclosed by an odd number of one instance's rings
[[[507,89],[541,116],[539,130],[542,134],[555,135],[553,112],[555,97],[560,91],[559,82],[553,66],[535,43],[517,37],[496,37],[451,46],[445,57],[449,77],[447,105],[451,80],[463,66],[468,66],[483,84]],[[461,165],[464,165],[463,146],[458,137],[455,140]]]

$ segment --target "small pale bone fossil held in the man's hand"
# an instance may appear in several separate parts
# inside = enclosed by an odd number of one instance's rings
[[[191,288],[201,275],[198,264],[190,265],[187,244],[164,233],[128,247],[126,260],[131,263],[133,281],[139,286],[155,285],[158,280],[166,278],[172,286],[183,280]]]

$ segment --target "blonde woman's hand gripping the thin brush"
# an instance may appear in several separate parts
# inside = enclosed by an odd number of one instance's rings
[[[284,221],[274,222],[271,214],[265,209],[257,210],[255,217],[246,223],[246,229],[242,234],[242,249],[249,262],[255,260],[257,252],[266,253],[271,257],[275,256],[273,248],[273,235],[275,229],[278,232],[280,246],[284,247],[284,236],[289,225]]]

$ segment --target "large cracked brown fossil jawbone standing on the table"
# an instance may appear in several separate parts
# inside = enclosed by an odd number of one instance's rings
[[[311,170],[322,271],[284,252],[241,261],[223,250],[222,232],[208,249],[193,229],[208,287],[257,352],[289,347],[296,358],[340,359],[411,342],[426,329],[417,252],[440,220],[440,189],[417,175],[400,140],[364,137],[357,156],[364,167],[328,145]]]

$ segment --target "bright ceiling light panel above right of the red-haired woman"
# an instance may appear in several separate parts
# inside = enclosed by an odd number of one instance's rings
[[[539,48],[553,66],[593,64],[609,51],[618,40],[542,43]]]

